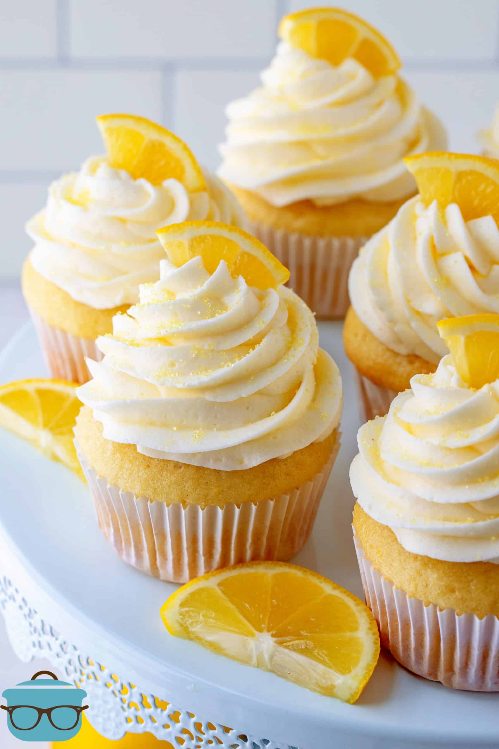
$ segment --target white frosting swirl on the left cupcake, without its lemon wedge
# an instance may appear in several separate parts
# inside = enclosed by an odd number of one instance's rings
[[[136,303],[138,286],[156,281],[165,257],[156,229],[195,219],[243,225],[236,198],[203,174],[206,192],[189,193],[176,179],[152,185],[91,157],[52,183],[46,208],[28,222],[31,264],[95,309]]]

